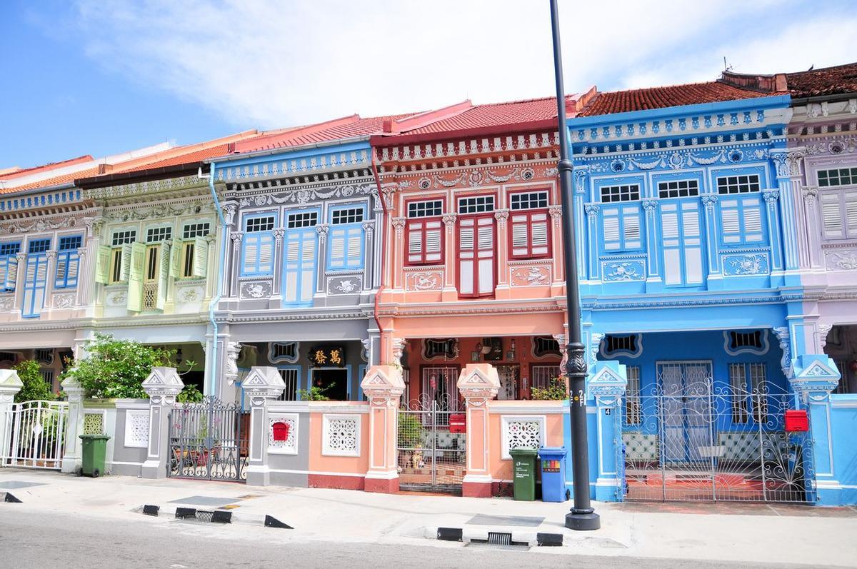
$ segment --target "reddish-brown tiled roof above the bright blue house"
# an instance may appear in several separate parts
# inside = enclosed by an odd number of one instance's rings
[[[708,83],[689,83],[669,87],[649,87],[599,93],[598,96],[580,113],[580,117],[608,115],[618,112],[647,111],[672,106],[699,105],[765,97],[768,93],[758,93],[740,89],[720,81]]]

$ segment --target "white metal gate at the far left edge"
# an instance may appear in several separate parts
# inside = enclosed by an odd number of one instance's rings
[[[65,401],[26,401],[12,405],[6,416],[9,434],[3,443],[3,466],[60,469],[65,451],[69,404]]]

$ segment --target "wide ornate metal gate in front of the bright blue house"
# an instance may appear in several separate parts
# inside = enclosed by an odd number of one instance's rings
[[[710,363],[683,365],[626,393],[625,500],[814,502],[812,436],[783,424],[793,396],[764,373],[743,388],[713,381]]]

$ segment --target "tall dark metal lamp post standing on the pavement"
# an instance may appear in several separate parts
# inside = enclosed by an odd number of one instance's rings
[[[566,131],[566,90],[562,85],[562,54],[560,52],[560,15],[557,0],[550,0],[550,23],[554,36],[554,76],[556,79],[556,116],[560,128],[560,194],[562,195],[562,249],[566,267],[566,311],[568,331],[566,344],[566,376],[568,377],[568,407],[572,429],[572,480],[574,505],[566,514],[566,528],[597,530],[601,518],[590,504],[589,449],[586,440],[586,356],[580,343],[580,301],[578,298],[578,261],[574,243],[574,212],[572,210],[572,159],[568,150]]]

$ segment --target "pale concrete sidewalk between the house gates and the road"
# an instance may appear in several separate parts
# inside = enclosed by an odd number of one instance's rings
[[[602,529],[572,532],[563,526],[570,502],[549,504],[426,494],[369,494],[320,488],[248,487],[234,482],[126,476],[78,478],[50,471],[0,470],[0,492],[21,504],[5,508],[83,517],[147,518],[144,504],[172,512],[176,506],[233,512],[230,536],[242,539],[409,543],[460,547],[434,539],[437,527],[488,530],[514,536],[562,533],[566,547],[551,554],[628,555],[671,559],[736,560],[813,566],[857,565],[857,509],[759,504],[596,503]],[[2,513],[0,513],[2,515]],[[261,526],[265,515],[294,530]],[[529,518],[529,519],[520,519]],[[535,519],[533,519],[535,518]],[[167,523],[169,518],[149,518]],[[253,521],[255,525],[243,524]],[[522,525],[524,524],[524,525]],[[219,531],[219,537],[225,532]]]

